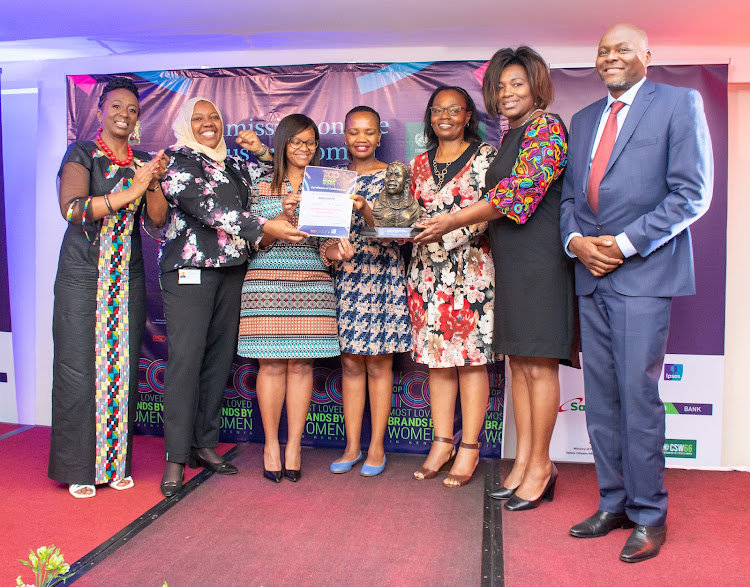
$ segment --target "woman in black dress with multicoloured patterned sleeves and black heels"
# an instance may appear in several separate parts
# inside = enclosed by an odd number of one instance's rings
[[[560,243],[560,191],[566,131],[552,102],[549,69],[528,47],[501,49],[484,75],[491,115],[509,125],[487,171],[484,198],[451,216],[426,220],[430,242],[456,227],[490,220],[495,259],[493,348],[509,357],[516,423],[516,460],[490,495],[508,510],[551,501],[557,469],[549,444],[560,404],[558,364],[577,364],[573,264]]]

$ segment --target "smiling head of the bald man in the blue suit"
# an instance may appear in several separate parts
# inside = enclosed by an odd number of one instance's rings
[[[645,33],[630,25],[616,25],[599,42],[596,71],[614,98],[619,98],[645,75],[651,63]]]

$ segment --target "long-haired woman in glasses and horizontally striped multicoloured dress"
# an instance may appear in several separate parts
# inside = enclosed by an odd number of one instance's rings
[[[300,190],[307,165],[320,162],[318,127],[307,116],[291,114],[274,136],[273,178],[257,184],[251,213],[288,218],[297,225]],[[318,238],[294,244],[270,237],[258,241],[242,287],[237,353],[260,363],[256,388],[265,433],[263,475],[275,483],[301,476],[302,433],[310,409],[313,359],[340,353],[336,295]],[[347,240],[329,247],[329,260],[351,257]],[[286,403],[287,444],[282,466],[279,422]]]

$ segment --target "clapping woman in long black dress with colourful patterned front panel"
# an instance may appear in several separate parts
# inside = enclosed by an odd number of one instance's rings
[[[160,152],[132,151],[135,84],[114,78],[99,99],[100,135],[70,145],[59,173],[68,229],[55,279],[49,477],[76,498],[133,486],[135,413],[146,286],[139,223],[164,224]],[[145,214],[144,214],[145,212]]]

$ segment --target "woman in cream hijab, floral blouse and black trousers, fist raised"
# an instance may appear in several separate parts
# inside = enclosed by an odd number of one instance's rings
[[[175,145],[162,189],[169,225],[161,269],[169,360],[164,381],[164,445],[161,482],[169,497],[182,489],[185,463],[222,475],[237,468],[216,453],[221,404],[237,348],[242,281],[249,245],[264,236],[298,242],[307,235],[283,218],[252,215],[250,190],[268,173],[271,153],[252,131],[237,144],[260,166],[228,157],[224,123],[205,98],[182,107],[172,125]]]

